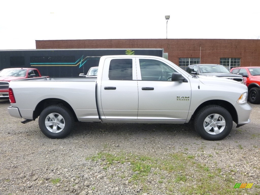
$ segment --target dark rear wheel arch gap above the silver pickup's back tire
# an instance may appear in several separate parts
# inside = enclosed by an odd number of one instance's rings
[[[63,105],[65,107],[67,107],[70,112],[72,112],[75,121],[77,121],[77,116],[73,110],[73,108],[69,105],[68,102],[62,100],[62,99],[57,99],[57,98],[48,98],[48,99],[44,99],[42,101],[40,101],[37,106],[35,107],[35,110],[33,112],[33,120],[35,120],[38,116],[40,116],[42,110],[48,106],[52,106],[52,105]]]

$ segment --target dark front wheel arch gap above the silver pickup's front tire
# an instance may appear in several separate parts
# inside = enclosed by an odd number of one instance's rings
[[[238,122],[238,116],[237,116],[237,111],[236,111],[235,107],[230,102],[227,102],[227,101],[224,101],[224,100],[209,100],[209,101],[203,102],[201,105],[199,105],[197,107],[197,109],[193,113],[192,119],[194,119],[194,116],[197,114],[197,112],[201,108],[203,108],[205,106],[209,106],[209,105],[217,105],[217,106],[221,106],[221,107],[225,108],[226,110],[228,110],[228,112],[232,116],[232,120],[235,123]]]

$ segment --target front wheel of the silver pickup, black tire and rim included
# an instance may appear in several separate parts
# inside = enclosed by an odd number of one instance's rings
[[[217,105],[203,107],[194,118],[195,130],[206,140],[224,139],[232,126],[233,120],[228,110]]]

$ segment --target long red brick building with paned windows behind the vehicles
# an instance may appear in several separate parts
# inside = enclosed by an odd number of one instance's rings
[[[81,48],[163,48],[168,60],[182,68],[196,63],[260,66],[260,40],[255,39],[36,40],[36,49]]]

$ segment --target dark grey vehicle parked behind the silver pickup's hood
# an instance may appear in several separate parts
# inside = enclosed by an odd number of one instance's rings
[[[186,71],[194,75],[222,77],[244,84],[243,76],[230,73],[226,67],[220,64],[193,64],[188,66]]]

